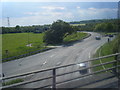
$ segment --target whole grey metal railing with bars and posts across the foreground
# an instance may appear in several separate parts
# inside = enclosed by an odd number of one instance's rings
[[[120,53],[111,54],[111,55],[107,55],[107,56],[103,56],[103,57],[99,57],[99,58],[94,58],[94,59],[90,59],[90,60],[87,60],[87,61],[84,61],[84,62],[80,62],[80,63],[92,62],[92,61],[95,61],[95,60],[109,58],[109,57],[113,57],[113,56],[117,57],[118,55],[120,55]],[[13,76],[9,76],[9,77],[3,77],[3,78],[1,78],[1,80],[8,81],[9,79],[12,80],[14,78],[19,78],[19,77],[23,77],[23,76],[27,76],[27,75],[31,75],[31,74],[37,74],[37,73],[52,71],[52,75],[50,75],[50,76],[43,77],[43,78],[37,78],[37,79],[34,79],[34,80],[29,80],[29,81],[24,81],[24,82],[21,82],[21,83],[16,83],[16,84],[8,85],[8,86],[3,86],[2,89],[5,89],[5,88],[16,88],[16,87],[20,87],[21,85],[25,85],[25,84],[30,84],[30,83],[34,83],[34,82],[38,82],[38,81],[52,79],[52,84],[42,85],[40,87],[37,87],[36,89],[41,89],[41,88],[46,88],[46,87],[51,87],[52,86],[53,90],[56,90],[56,86],[58,84],[62,84],[62,83],[68,82],[68,81],[72,81],[72,80],[78,79],[78,78],[83,78],[83,77],[87,77],[87,76],[90,76],[90,75],[94,75],[94,74],[97,74],[97,73],[110,71],[110,70],[114,70],[114,73],[117,73],[115,75],[117,75],[117,77],[119,78],[119,76],[118,76],[118,73],[120,72],[118,70],[118,68],[120,67],[120,65],[118,65],[119,62],[120,62],[120,60],[118,59],[118,60],[113,60],[113,61],[110,61],[110,62],[105,62],[105,63],[102,63],[102,64],[89,66],[89,67],[86,67],[86,68],[77,69],[77,70],[74,70],[74,71],[69,71],[69,72],[57,74],[56,71],[58,69],[66,68],[66,67],[68,68],[70,66],[75,66],[77,64],[80,64],[80,63],[74,63],[74,64],[68,64],[68,65],[63,65],[63,66],[56,66],[56,67],[49,68],[49,69],[44,69],[44,70],[37,70],[37,71],[28,72],[28,73],[19,74],[19,75],[13,75]],[[83,70],[83,69],[87,69],[87,70],[88,69],[93,69],[93,68],[96,68],[98,66],[107,65],[107,64],[114,64],[115,66],[107,68],[107,69],[104,69],[104,70],[99,70],[99,71],[87,73],[87,74],[81,75],[79,77],[71,78],[69,80],[56,82],[56,78],[59,77],[59,76],[64,76],[64,75],[72,74],[72,73],[75,73],[75,72],[79,72],[80,70]]]

